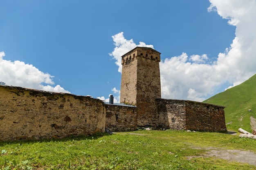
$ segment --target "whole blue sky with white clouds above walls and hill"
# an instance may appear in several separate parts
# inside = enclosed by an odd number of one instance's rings
[[[255,0],[1,0],[0,81],[119,102],[121,55],[150,46],[162,98],[203,101],[256,73],[255,11]]]

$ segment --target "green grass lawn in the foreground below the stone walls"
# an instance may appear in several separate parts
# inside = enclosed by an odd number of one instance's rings
[[[248,170],[205,155],[211,147],[256,152],[256,140],[217,132],[135,131],[61,140],[0,142],[2,170]]]

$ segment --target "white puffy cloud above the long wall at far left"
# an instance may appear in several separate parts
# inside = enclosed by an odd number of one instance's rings
[[[0,81],[9,86],[21,86],[43,91],[70,93],[60,85],[54,85],[52,78],[54,76],[39,71],[31,64],[25,64],[21,61],[4,60],[5,53],[0,52]],[[46,84],[46,85],[43,85]]]

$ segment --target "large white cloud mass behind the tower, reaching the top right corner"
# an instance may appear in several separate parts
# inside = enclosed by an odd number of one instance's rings
[[[218,14],[236,26],[236,37],[217,60],[209,62],[207,54],[182,53],[162,60],[160,64],[162,98],[203,101],[214,95],[225,84],[236,86],[256,73],[256,1],[255,0],[210,0],[209,12]],[[112,36],[115,49],[110,54],[115,58],[121,72],[121,56],[136,46],[147,46],[126,40],[123,32]]]

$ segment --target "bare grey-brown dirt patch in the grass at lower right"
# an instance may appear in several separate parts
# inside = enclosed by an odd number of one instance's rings
[[[256,154],[252,151],[244,150],[230,150],[223,148],[195,148],[195,149],[209,149],[204,155],[187,157],[189,160],[198,157],[217,157],[220,159],[226,159],[230,161],[238,161],[242,163],[248,163],[256,166]]]

